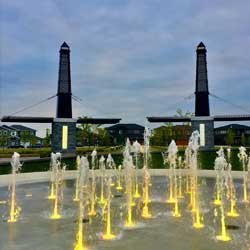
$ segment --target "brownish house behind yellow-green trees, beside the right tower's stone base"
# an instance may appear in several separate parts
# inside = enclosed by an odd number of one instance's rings
[[[190,125],[160,126],[153,130],[151,144],[166,146],[171,140],[175,140],[177,145],[188,145],[191,133],[192,128]]]

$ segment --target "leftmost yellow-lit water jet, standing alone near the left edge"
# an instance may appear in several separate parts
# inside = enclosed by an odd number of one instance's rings
[[[12,167],[12,181],[10,186],[10,212],[9,212],[9,223],[14,223],[20,214],[21,208],[17,206],[16,202],[16,173],[20,170],[22,164],[20,163],[20,154],[14,153],[11,159]]]

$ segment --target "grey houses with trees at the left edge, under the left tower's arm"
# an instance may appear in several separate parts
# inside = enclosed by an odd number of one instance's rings
[[[36,130],[23,125],[0,126],[0,144],[5,147],[38,147],[43,139],[36,136]]]

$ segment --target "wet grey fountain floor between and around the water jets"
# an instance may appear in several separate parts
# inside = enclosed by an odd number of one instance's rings
[[[139,178],[139,183],[142,179]],[[199,180],[201,190],[201,209],[204,214],[205,227],[196,230],[192,227],[192,216],[188,209],[188,197],[181,200],[181,218],[172,216],[172,205],[166,204],[166,177],[152,177],[150,209],[152,219],[143,220],[140,217],[140,203],[137,203],[135,218],[138,227],[131,230],[124,229],[126,216],[126,197],[117,196],[114,190],[112,207],[112,232],[118,235],[115,241],[101,240],[101,233],[105,231],[105,223],[101,221],[101,209],[97,207],[97,216],[84,223],[85,239],[89,249],[100,250],[231,250],[249,249],[250,236],[247,228],[250,216],[249,205],[237,203],[238,218],[226,219],[230,225],[228,233],[232,241],[218,242],[216,235],[220,230],[219,216],[215,217],[216,206],[213,205],[214,179]],[[97,191],[100,186],[97,184]],[[242,194],[242,181],[235,183],[238,197]],[[49,183],[17,185],[16,197],[22,211],[17,223],[9,224],[8,205],[0,203],[0,249],[1,250],[72,250],[77,228],[78,203],[73,202],[74,182],[64,183],[63,207],[61,220],[50,220],[51,200],[46,197]],[[97,192],[97,193],[98,193]],[[8,200],[8,188],[0,188],[0,200]],[[238,199],[240,200],[240,199]],[[217,208],[218,209],[218,208]]]

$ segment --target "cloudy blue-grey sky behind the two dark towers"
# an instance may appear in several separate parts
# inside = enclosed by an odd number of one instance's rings
[[[150,125],[147,116],[193,112],[200,41],[210,92],[250,110],[249,0],[11,0],[0,7],[0,117],[56,94],[64,41],[72,92],[82,99],[74,117]],[[210,106],[212,115],[246,113],[212,96]],[[18,115],[55,112],[54,99]],[[50,127],[28,126],[38,135]]]

